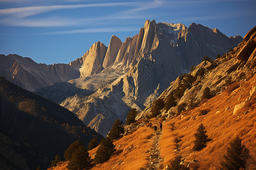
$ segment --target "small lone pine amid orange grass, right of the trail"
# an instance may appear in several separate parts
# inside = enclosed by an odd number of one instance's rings
[[[204,125],[201,124],[195,134],[196,140],[193,141],[195,144],[193,146],[194,151],[200,151],[201,149],[207,146],[207,142],[212,140],[208,138],[208,135],[206,133],[207,131],[205,130]]]

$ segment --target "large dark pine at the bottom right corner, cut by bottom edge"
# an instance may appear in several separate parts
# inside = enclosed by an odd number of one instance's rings
[[[241,139],[236,137],[233,141],[229,142],[229,147],[224,155],[224,160],[221,160],[221,168],[227,170],[238,170],[246,168],[247,160],[249,159],[249,150],[242,145]]]

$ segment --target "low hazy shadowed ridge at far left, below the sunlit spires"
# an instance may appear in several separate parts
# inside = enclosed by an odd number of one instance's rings
[[[78,70],[67,64],[46,65],[16,54],[0,55],[0,61],[0,76],[29,91],[80,76]]]

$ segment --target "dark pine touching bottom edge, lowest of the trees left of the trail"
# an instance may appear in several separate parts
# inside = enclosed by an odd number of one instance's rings
[[[84,146],[79,146],[73,152],[71,160],[68,162],[68,169],[90,169],[93,167],[92,159]]]

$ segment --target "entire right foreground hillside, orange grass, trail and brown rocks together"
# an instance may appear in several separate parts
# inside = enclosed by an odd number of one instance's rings
[[[151,118],[156,103],[147,105],[113,142],[111,158],[92,169],[224,169],[224,160],[232,166],[227,169],[241,169],[240,158],[246,160],[243,169],[255,169],[256,27],[233,50],[214,60],[204,57],[178,76],[157,100],[164,103],[158,116]],[[193,146],[201,125],[210,140],[198,151]],[[241,143],[232,144],[236,138]],[[97,149],[89,151],[92,158]],[[67,169],[67,164],[49,170]]]

